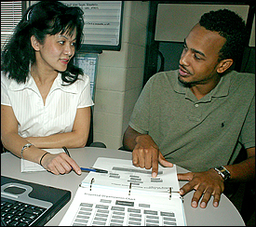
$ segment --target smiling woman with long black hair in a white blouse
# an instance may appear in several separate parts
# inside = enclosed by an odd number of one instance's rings
[[[80,167],[65,153],[88,140],[88,75],[74,66],[83,37],[83,11],[60,2],[29,7],[2,53],[1,140],[4,147],[54,174]]]

